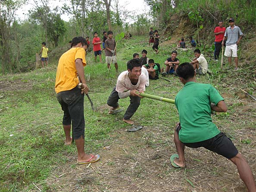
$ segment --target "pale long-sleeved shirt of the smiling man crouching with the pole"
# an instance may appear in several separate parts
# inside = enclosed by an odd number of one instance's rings
[[[116,82],[116,91],[119,93],[124,93],[125,90],[145,91],[146,76],[141,73],[137,84],[133,85],[128,77],[128,73],[128,71],[123,71],[119,74]]]

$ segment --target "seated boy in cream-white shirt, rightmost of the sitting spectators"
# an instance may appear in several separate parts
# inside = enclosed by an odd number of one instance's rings
[[[200,50],[194,50],[195,57],[190,62],[193,65],[194,70],[197,69],[199,75],[206,74],[208,70],[208,64]]]

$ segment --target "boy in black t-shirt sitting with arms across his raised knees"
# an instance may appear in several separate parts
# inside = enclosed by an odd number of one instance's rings
[[[173,73],[175,76],[178,76],[176,69],[178,68],[180,61],[177,58],[177,51],[172,51],[172,56],[167,58],[165,61],[165,72],[162,73],[163,76],[166,76],[168,73]],[[173,70],[172,70],[173,69]]]

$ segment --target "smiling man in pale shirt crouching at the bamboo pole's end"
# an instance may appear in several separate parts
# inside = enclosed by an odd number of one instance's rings
[[[127,62],[127,71],[123,71],[116,83],[116,87],[110,93],[107,104],[110,106],[109,114],[116,114],[122,110],[118,110],[119,99],[124,99],[130,97],[130,105],[125,111],[123,121],[128,124],[134,124],[131,120],[132,115],[137,111],[140,105],[140,95],[136,93],[144,93],[146,84],[146,77],[141,74],[140,61],[137,59],[132,59]],[[125,92],[125,90],[128,90]]]

